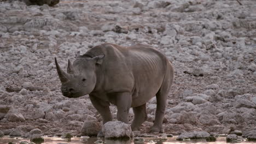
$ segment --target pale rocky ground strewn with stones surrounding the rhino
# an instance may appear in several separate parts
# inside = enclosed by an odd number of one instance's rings
[[[66,68],[77,51],[102,43],[150,44],[173,63],[167,134],[256,130],[256,1],[241,3],[62,0],[49,7],[0,1],[0,130],[79,135],[84,121],[101,122],[88,96],[62,96],[54,57]],[[149,132],[155,108],[152,99],[142,133]],[[111,111],[115,116],[115,106]]]

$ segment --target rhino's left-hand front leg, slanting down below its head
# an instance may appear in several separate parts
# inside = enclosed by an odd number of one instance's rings
[[[101,114],[103,119],[103,124],[109,121],[112,121],[112,115],[109,110],[109,103],[107,101],[103,101],[97,97],[92,95],[90,96],[90,100],[92,105],[94,105],[95,109]]]

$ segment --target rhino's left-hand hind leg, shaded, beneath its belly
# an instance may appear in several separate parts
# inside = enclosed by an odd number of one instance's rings
[[[139,131],[139,127],[145,121],[147,121],[146,104],[133,107],[134,119],[131,124],[132,131]]]

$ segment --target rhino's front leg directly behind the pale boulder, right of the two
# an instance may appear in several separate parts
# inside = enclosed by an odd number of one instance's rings
[[[129,115],[129,110],[131,107],[131,102],[132,102],[132,97],[131,93],[129,92],[123,92],[123,93],[118,93],[116,95],[116,104],[117,104],[117,119],[118,121],[128,123],[128,115]]]

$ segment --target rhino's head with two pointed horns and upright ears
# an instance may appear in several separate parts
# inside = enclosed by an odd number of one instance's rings
[[[104,55],[82,57],[78,52],[73,64],[68,59],[67,72],[60,68],[55,58],[62,94],[68,98],[78,98],[90,94],[96,85],[96,67],[102,64],[103,58]]]

